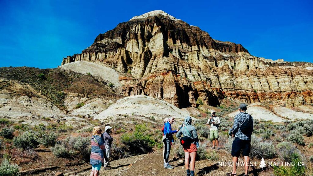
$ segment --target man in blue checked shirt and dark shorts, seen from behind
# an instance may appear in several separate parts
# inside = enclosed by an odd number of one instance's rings
[[[244,175],[248,176],[249,170],[249,154],[250,154],[250,139],[253,132],[253,118],[247,112],[247,105],[242,103],[239,105],[239,114],[234,117],[233,134],[235,137],[232,146],[233,156],[233,171],[227,173],[227,176],[237,176],[236,169],[240,151],[243,151],[244,156]]]

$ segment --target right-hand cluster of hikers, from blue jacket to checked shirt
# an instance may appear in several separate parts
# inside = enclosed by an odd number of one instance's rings
[[[234,117],[233,127],[229,130],[229,135],[235,137],[232,145],[233,156],[233,170],[227,173],[227,176],[237,176],[236,169],[238,165],[238,157],[242,151],[244,156],[244,175],[248,176],[249,170],[249,154],[250,154],[250,137],[253,132],[253,118],[247,112],[247,105],[242,103],[239,105],[239,113]],[[162,128],[163,137],[163,159],[164,168],[173,169],[168,162],[168,158],[171,151],[172,142],[174,142],[173,134],[180,140],[180,144],[183,147],[185,154],[185,168],[187,176],[194,176],[195,162],[197,156],[197,148],[199,148],[199,139],[196,128],[192,126],[192,118],[187,116],[184,119],[184,123],[177,130],[172,130],[171,125],[174,123],[174,118],[164,119],[164,126]],[[220,149],[218,147],[218,127],[221,121],[216,116],[215,111],[211,111],[211,116],[208,118],[208,125],[210,125],[210,139],[213,142],[211,149]]]

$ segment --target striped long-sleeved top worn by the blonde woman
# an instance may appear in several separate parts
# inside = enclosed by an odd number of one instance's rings
[[[103,140],[98,135],[91,137],[90,164],[104,163],[105,146]]]

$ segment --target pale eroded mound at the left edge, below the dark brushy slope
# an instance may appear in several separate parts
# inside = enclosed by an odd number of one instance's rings
[[[86,125],[79,117],[64,114],[50,101],[43,98],[28,96],[11,96],[9,93],[0,94],[0,116],[13,122],[21,122],[31,126],[43,123],[62,121],[72,126]]]

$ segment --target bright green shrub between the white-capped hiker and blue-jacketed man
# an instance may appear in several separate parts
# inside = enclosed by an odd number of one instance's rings
[[[146,124],[135,126],[133,133],[125,133],[120,137],[120,142],[125,145],[126,151],[132,154],[144,154],[152,152],[155,141]]]

